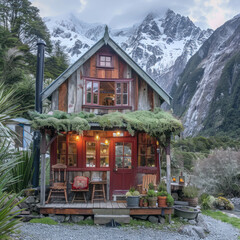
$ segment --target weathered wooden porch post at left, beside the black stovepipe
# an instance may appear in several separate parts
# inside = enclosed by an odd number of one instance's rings
[[[47,140],[45,130],[41,131],[42,141],[41,141],[41,193],[40,193],[40,205],[45,205],[45,191],[46,191],[46,150],[47,150]]]

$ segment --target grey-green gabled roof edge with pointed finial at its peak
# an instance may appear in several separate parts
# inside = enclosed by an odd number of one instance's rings
[[[172,97],[163,90],[122,48],[110,38],[108,27],[105,28],[103,38],[94,44],[85,54],[83,54],[73,65],[67,68],[55,81],[46,87],[41,95],[42,100],[50,96],[72,73],[84,64],[102,46],[109,45],[143,80],[145,80],[160,97],[170,104]]]

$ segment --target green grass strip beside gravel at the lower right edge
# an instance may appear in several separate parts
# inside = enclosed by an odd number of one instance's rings
[[[211,211],[211,210],[204,210],[202,211],[203,214],[220,220],[222,222],[226,222],[231,224],[232,226],[240,229],[240,219],[236,217],[229,217],[228,215],[220,212],[220,211]]]

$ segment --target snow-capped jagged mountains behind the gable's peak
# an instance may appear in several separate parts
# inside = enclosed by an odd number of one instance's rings
[[[104,34],[104,24],[89,24],[73,14],[45,18],[51,39],[60,41],[75,62]],[[110,35],[166,91],[170,92],[187,61],[212,34],[201,30],[188,17],[167,10],[148,14],[142,22]]]

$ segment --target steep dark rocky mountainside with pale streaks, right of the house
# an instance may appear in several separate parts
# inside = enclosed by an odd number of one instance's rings
[[[240,134],[240,15],[219,27],[172,89],[184,135]]]

